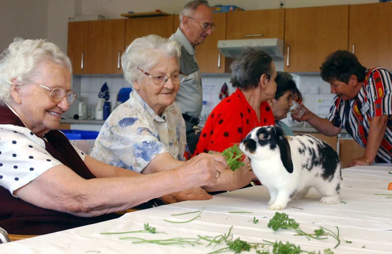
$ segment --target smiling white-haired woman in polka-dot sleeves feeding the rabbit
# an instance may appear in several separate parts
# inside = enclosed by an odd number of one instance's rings
[[[214,185],[227,165],[205,154],[144,175],[95,160],[55,130],[75,98],[71,63],[56,45],[16,38],[0,55],[0,225],[10,234],[116,218],[152,198]]]

